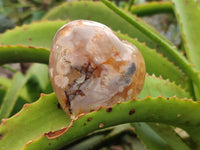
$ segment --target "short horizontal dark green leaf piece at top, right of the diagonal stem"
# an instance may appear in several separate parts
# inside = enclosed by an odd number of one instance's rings
[[[170,2],[148,2],[141,5],[129,5],[128,10],[137,16],[152,15],[156,13],[173,13]]]

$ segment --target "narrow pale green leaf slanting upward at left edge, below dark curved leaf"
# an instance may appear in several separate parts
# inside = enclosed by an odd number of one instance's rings
[[[24,84],[24,76],[21,73],[16,73],[12,81],[12,86],[7,90],[7,93],[1,104],[0,119],[9,117]]]

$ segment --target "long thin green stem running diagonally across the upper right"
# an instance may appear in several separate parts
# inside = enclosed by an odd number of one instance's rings
[[[119,8],[117,8],[108,0],[101,0],[101,1],[110,9],[112,9],[116,14],[118,14],[119,16],[124,18],[127,22],[129,22],[130,24],[135,26],[137,29],[139,29],[141,32],[143,32],[145,35],[150,36],[154,41],[162,45],[167,50],[166,53],[168,53],[173,58],[174,62],[178,64],[179,67],[192,79],[192,81],[196,84],[198,91],[200,91],[199,73],[194,70],[192,65],[173,46],[171,46],[166,41],[162,40],[150,29],[138,23],[137,20],[135,20],[134,18],[130,17],[129,15],[121,11]]]

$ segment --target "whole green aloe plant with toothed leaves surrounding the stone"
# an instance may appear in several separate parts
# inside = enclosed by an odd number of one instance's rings
[[[135,6],[130,1],[122,9],[107,0],[66,2],[41,21],[1,34],[1,65],[34,64],[26,74],[14,71],[13,79],[0,77],[0,149],[109,148],[125,135],[132,138],[134,149],[200,149],[200,5],[195,0],[160,3]],[[158,5],[163,7],[153,7]],[[179,23],[185,56],[138,17],[166,11]],[[56,31],[76,19],[101,22],[137,46],[147,74],[138,98],[72,120],[53,93],[48,60]]]

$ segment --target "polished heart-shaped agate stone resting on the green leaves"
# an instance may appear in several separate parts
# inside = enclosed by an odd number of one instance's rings
[[[137,97],[145,64],[139,50],[107,26],[76,20],[56,33],[49,73],[60,105],[77,116]]]

